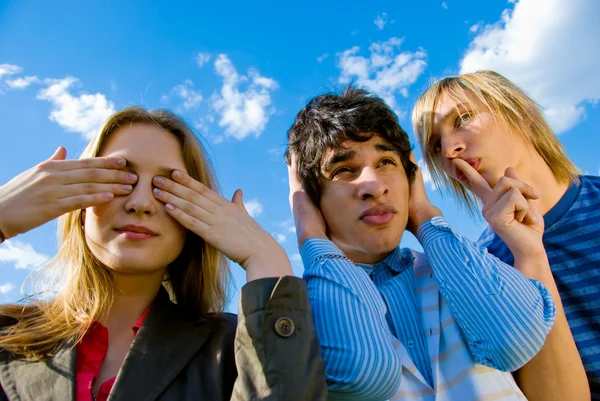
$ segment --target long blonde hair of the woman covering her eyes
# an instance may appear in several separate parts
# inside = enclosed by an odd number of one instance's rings
[[[129,107],[115,113],[88,144],[82,158],[102,155],[114,132],[132,124],[156,124],[173,134],[181,144],[190,176],[218,192],[199,139],[184,120],[167,110]],[[61,288],[47,301],[33,300],[26,306],[0,306],[0,316],[15,321],[0,331],[0,349],[43,359],[65,343],[77,344],[94,319],[103,316],[111,307],[115,294],[113,275],[86,243],[82,210],[59,218],[58,237],[58,253],[42,270],[43,274],[33,278],[59,280]],[[167,267],[163,285],[174,302],[198,316],[223,309],[229,277],[225,256],[188,232],[182,252]]]

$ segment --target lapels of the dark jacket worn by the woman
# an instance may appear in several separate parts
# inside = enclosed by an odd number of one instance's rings
[[[135,337],[109,401],[155,400],[208,339],[206,319],[191,319],[161,288]],[[61,347],[47,361],[0,353],[0,384],[9,399],[74,400],[76,347]]]

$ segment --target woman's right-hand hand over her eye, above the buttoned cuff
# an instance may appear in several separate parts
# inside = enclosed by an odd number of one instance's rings
[[[248,281],[292,274],[287,254],[246,211],[242,191],[223,198],[183,171],[154,177],[154,196],[167,213],[248,273]]]

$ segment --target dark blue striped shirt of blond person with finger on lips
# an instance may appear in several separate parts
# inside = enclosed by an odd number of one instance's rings
[[[544,246],[565,314],[600,400],[600,177],[581,176],[544,216]],[[480,244],[506,263],[512,254],[491,229]]]

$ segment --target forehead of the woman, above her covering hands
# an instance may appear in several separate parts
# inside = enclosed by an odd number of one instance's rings
[[[100,156],[122,156],[141,167],[185,169],[175,135],[154,124],[133,124],[114,131]]]

